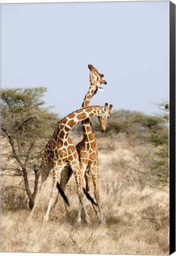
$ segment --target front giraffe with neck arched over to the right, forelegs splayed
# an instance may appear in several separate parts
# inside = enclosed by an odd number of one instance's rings
[[[84,202],[84,192],[83,192],[83,174],[82,169],[80,168],[79,156],[76,151],[76,147],[73,144],[71,137],[69,137],[69,132],[71,129],[79,123],[79,121],[84,121],[89,117],[98,116],[99,121],[101,123],[101,119],[104,117],[110,116],[110,107],[106,103],[103,107],[99,105],[95,105],[92,107],[81,108],[80,110],[76,110],[73,113],[69,114],[62,120],[57,123],[55,132],[53,133],[52,140],[50,140],[50,156],[53,164],[53,185],[52,190],[50,191],[50,200],[49,205],[47,207],[46,215],[44,216],[43,221],[47,222],[49,219],[50,209],[53,203],[53,200],[56,196],[56,186],[57,181],[62,169],[69,165],[71,167],[72,172],[75,176],[76,186],[77,186],[77,194],[79,197],[79,209],[81,205],[84,209],[85,220],[88,224],[91,223],[91,220],[88,216],[87,209],[85,207]],[[50,165],[50,163],[49,163]],[[47,165],[47,166],[49,166]],[[41,190],[41,188],[40,188]],[[78,212],[79,213],[79,212]],[[79,216],[77,221],[79,222]]]

